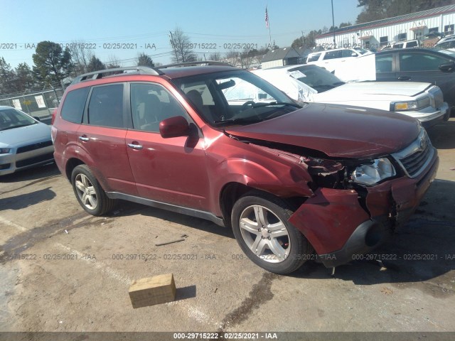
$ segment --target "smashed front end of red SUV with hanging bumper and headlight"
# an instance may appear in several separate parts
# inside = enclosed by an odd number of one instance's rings
[[[327,267],[374,249],[419,205],[439,159],[422,129],[402,151],[365,160],[301,158],[314,195],[289,218]],[[353,258],[354,257],[354,258]]]

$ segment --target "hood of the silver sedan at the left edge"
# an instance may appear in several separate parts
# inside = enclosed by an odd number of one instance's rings
[[[0,146],[23,146],[28,142],[50,140],[50,126],[43,123],[0,131]]]

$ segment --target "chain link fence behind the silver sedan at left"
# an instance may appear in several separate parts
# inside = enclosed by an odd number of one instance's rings
[[[58,107],[63,96],[63,89],[43,90],[32,94],[16,94],[0,99],[0,105],[14,107],[34,117],[50,117],[53,109]]]

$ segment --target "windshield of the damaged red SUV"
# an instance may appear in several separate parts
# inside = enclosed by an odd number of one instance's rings
[[[276,87],[245,70],[183,77],[173,83],[213,126],[253,124],[300,107]]]

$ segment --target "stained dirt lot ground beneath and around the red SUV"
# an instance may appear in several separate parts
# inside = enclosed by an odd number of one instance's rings
[[[429,135],[437,180],[375,251],[390,260],[334,277],[315,263],[269,274],[205,220],[127,202],[87,215],[55,165],[0,178],[0,330],[455,332],[455,119]],[[129,283],[166,273],[176,301],[133,309]]]

